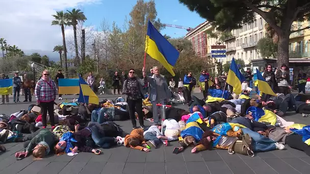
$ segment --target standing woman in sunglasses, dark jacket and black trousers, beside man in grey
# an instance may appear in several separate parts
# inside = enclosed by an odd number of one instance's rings
[[[135,70],[129,70],[128,79],[125,80],[123,84],[123,94],[126,95],[126,101],[128,103],[129,115],[133,124],[133,129],[137,128],[135,112],[138,113],[140,126],[142,129],[144,129],[142,114],[142,99],[144,99],[143,86],[144,82],[143,80],[136,77]]]

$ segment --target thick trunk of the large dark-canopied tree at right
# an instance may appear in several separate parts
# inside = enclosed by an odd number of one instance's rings
[[[281,69],[282,64],[289,66],[289,43],[290,34],[278,35],[277,67]]]

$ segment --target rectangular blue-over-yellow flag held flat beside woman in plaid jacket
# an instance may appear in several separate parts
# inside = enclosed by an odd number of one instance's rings
[[[80,80],[77,78],[60,78],[58,79],[59,94],[79,94]]]

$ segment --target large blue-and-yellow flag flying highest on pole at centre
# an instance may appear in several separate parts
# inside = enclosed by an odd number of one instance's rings
[[[145,52],[160,62],[172,76],[175,76],[172,68],[178,59],[179,52],[156,30],[150,21],[147,25]]]

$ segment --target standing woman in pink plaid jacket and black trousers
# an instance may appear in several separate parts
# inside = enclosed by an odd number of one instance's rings
[[[50,78],[48,70],[44,70],[42,72],[42,77],[37,82],[35,88],[35,95],[38,105],[41,106],[43,128],[46,128],[46,117],[48,111],[51,130],[53,130],[55,128],[54,101],[57,96],[57,87],[55,82]]]

